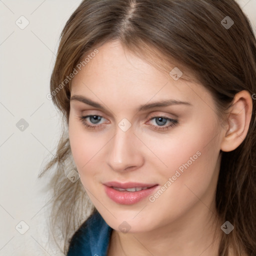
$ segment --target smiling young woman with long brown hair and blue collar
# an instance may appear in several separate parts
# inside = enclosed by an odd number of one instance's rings
[[[43,171],[57,164],[64,253],[256,255],[255,63],[234,0],[83,0],[51,75],[64,126]]]

